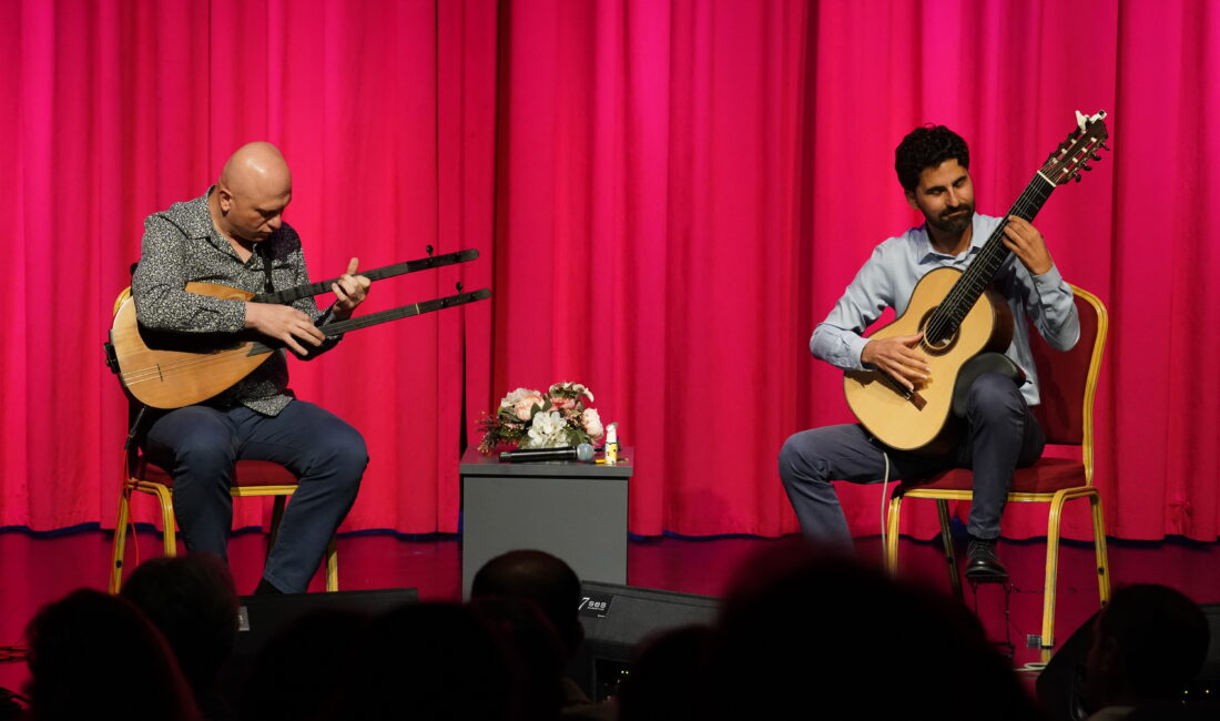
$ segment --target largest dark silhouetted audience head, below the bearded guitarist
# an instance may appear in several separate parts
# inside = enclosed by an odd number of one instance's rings
[[[714,719],[1037,717],[959,600],[806,545],[743,566],[719,632]]]

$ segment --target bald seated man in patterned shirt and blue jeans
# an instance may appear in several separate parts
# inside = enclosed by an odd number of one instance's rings
[[[140,325],[183,334],[256,331],[287,346],[224,393],[198,405],[157,411],[142,437],[152,462],[173,476],[173,509],[192,553],[227,559],[233,522],[233,464],[274,461],[300,479],[256,593],[301,593],[327,542],[355,501],[368,453],[338,416],[288,388],[287,353],[310,360],[339,337],[326,326],[346,320],[368,293],[351,259],[318,311],[312,298],[292,305],[221,300],[184,290],[193,281],[250,293],[309,283],[300,238],[283,221],[292,201],[288,163],[270,143],[242,146],[203,196],[144,221],[132,295]]]

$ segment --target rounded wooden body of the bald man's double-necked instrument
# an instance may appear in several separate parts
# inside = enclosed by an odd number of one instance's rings
[[[254,295],[212,283],[188,283],[188,293],[226,300]],[[192,405],[223,393],[261,366],[274,349],[246,333],[171,333],[140,327],[128,298],[110,331],[123,386],[157,409]]]

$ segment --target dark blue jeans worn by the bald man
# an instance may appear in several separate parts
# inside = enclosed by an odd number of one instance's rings
[[[296,475],[299,486],[262,573],[284,593],[303,593],[309,586],[368,465],[355,428],[301,400],[278,416],[245,406],[181,407],[152,421],[144,447],[149,460],[173,476],[173,511],[187,550],[221,559],[227,559],[233,525],[233,464],[274,461]]]

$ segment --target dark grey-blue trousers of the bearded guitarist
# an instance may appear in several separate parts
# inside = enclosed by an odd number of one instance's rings
[[[849,545],[852,533],[831,481],[880,483],[888,454],[892,481],[946,468],[972,468],[974,503],[966,529],[975,538],[998,537],[1013,471],[1042,456],[1046,437],[1009,378],[985,373],[975,379],[967,398],[967,432],[943,456],[919,456],[886,448],[859,425],[827,426],[791,436],[780,451],[780,478],[802,532],[824,543]]]

